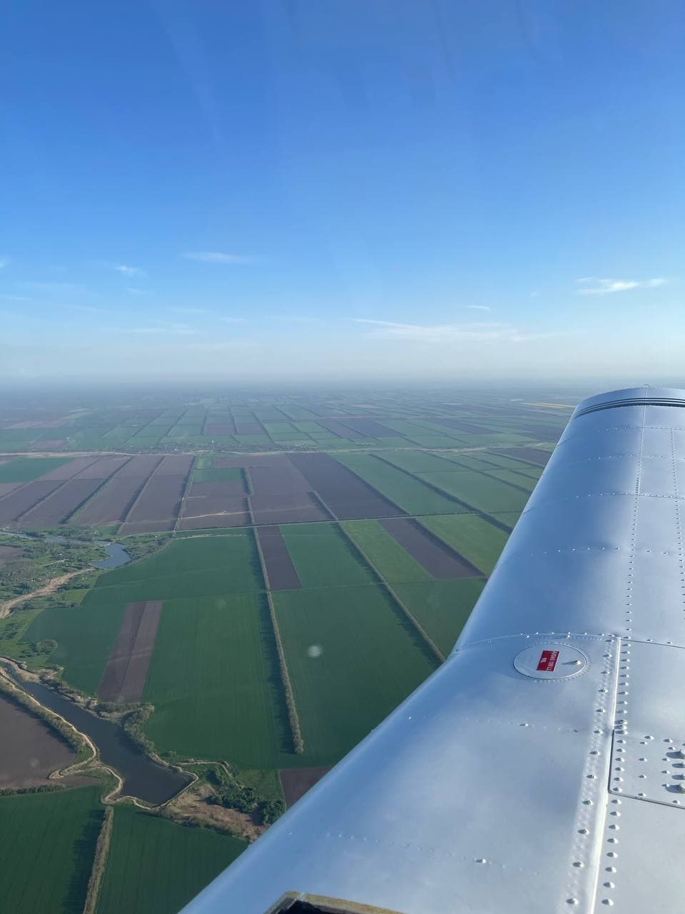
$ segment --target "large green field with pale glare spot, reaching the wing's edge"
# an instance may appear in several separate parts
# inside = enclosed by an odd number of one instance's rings
[[[381,587],[281,590],[274,599],[305,745],[292,760],[330,765],[436,662]],[[312,645],[321,654],[311,656]]]

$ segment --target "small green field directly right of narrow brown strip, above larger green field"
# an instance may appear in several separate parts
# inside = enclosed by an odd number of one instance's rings
[[[302,587],[374,583],[374,573],[335,524],[284,524],[280,532]]]

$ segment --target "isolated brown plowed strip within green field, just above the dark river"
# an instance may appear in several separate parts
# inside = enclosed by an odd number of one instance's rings
[[[102,701],[127,704],[141,700],[161,615],[162,600],[128,604],[100,679]]]

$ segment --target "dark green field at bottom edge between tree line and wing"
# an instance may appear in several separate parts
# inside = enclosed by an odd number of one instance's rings
[[[117,806],[98,914],[177,914],[246,846]]]

